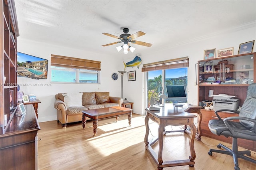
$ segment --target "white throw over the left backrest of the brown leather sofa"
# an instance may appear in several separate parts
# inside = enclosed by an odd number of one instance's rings
[[[83,93],[65,93],[64,102],[67,107],[82,107],[82,95]]]

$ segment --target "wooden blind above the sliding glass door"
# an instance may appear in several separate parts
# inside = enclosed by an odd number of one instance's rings
[[[189,66],[189,58],[182,57],[176,59],[169,59],[165,61],[158,61],[154,63],[143,64],[142,72],[144,71],[154,71],[163,69],[175,69]]]

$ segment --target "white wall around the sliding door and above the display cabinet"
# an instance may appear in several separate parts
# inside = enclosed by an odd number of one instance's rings
[[[188,38],[189,40],[189,38]],[[227,30],[226,32],[214,34],[208,38],[202,38],[202,40],[194,41],[187,44],[182,44],[176,47],[164,49],[162,51],[150,51],[149,53],[142,53],[142,63],[152,63],[156,61],[163,61],[167,59],[174,59],[179,57],[189,56],[189,68],[188,68],[188,103],[197,105],[197,91],[196,85],[196,70],[195,64],[198,60],[204,59],[205,49],[224,49],[228,47],[234,47],[234,55],[238,54],[240,43],[256,40],[256,25],[251,24],[248,28],[235,28],[234,30]],[[154,44],[153,44],[154,45]],[[255,43],[254,43],[254,52]],[[124,82],[124,97],[127,97],[129,101],[134,102],[134,113],[144,114],[143,106],[143,73],[141,69],[136,69],[136,81]]]

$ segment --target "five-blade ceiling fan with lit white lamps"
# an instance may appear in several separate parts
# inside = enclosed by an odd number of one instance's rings
[[[140,36],[145,35],[144,32],[138,31],[138,32],[136,32],[132,35],[127,34],[129,32],[129,28],[124,28],[123,32],[124,32],[124,34],[121,34],[119,37],[114,36],[112,34],[108,34],[108,33],[102,33],[106,36],[110,36],[110,37],[113,37],[113,38],[116,38],[116,39],[120,40],[120,42],[109,43],[109,44],[105,44],[105,45],[102,45],[102,46],[105,47],[105,46],[108,46],[108,45],[114,45],[114,44],[117,44],[117,43],[124,42],[124,45],[118,46],[118,47],[116,47],[116,49],[117,49],[117,51],[120,51],[122,48],[124,48],[124,54],[127,54],[129,50],[132,51],[132,52],[135,50],[134,47],[130,46],[130,43],[143,45],[143,46],[146,46],[146,47],[151,47],[151,45],[152,45],[151,43],[140,42],[140,41],[134,40],[135,38],[138,38]]]

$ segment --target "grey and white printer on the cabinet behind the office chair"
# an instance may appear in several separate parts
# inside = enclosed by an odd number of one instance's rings
[[[233,97],[227,94],[212,95],[213,96],[213,108],[214,111],[219,109],[229,109],[236,111],[239,108],[240,99],[234,99]]]

